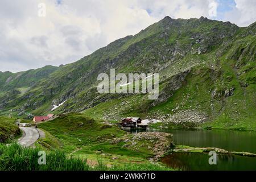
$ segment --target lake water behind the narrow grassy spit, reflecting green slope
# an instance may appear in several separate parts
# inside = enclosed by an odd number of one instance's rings
[[[193,147],[218,147],[228,151],[256,154],[255,131],[232,130],[161,130],[172,133],[175,144]]]

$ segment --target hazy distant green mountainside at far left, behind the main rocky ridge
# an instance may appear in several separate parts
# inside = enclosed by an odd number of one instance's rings
[[[38,82],[47,80],[51,73],[55,72],[59,67],[45,66],[39,69],[31,69],[25,72],[11,73],[11,72],[0,72],[0,110],[1,115],[6,115],[9,113],[14,117],[24,114],[24,108],[28,107],[24,100],[35,96],[35,94],[29,94],[26,96],[30,90],[35,87]],[[15,100],[14,100],[15,98]],[[12,101],[10,110],[3,110],[9,101]],[[20,102],[18,101],[20,100]],[[40,101],[36,103],[40,104]],[[36,106],[34,103],[34,106]],[[22,105],[23,109],[16,107],[16,105]],[[15,114],[13,114],[15,113]],[[30,114],[30,113],[27,113]]]

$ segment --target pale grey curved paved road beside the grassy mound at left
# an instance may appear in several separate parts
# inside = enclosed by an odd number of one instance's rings
[[[20,127],[23,131],[23,137],[18,140],[18,143],[24,147],[30,147],[39,139],[40,135],[38,130],[34,127]]]

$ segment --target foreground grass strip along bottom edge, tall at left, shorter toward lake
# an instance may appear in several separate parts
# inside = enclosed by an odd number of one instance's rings
[[[0,171],[88,171],[88,170],[114,170],[114,171],[166,171],[170,168],[156,164],[115,164],[111,167],[104,163],[91,167],[86,159],[69,157],[61,151],[48,151],[46,164],[38,164],[39,148],[24,148],[18,144],[6,146],[0,144]]]

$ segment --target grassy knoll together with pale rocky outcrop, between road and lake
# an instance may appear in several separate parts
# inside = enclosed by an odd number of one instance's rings
[[[39,140],[39,148],[57,148],[69,156],[87,159],[90,166],[99,162],[114,166],[119,163],[146,163],[149,158],[159,158],[171,147],[170,134],[141,133],[132,135],[80,113],[69,113],[40,123],[47,131],[46,139]],[[53,142],[55,141],[55,142]]]

